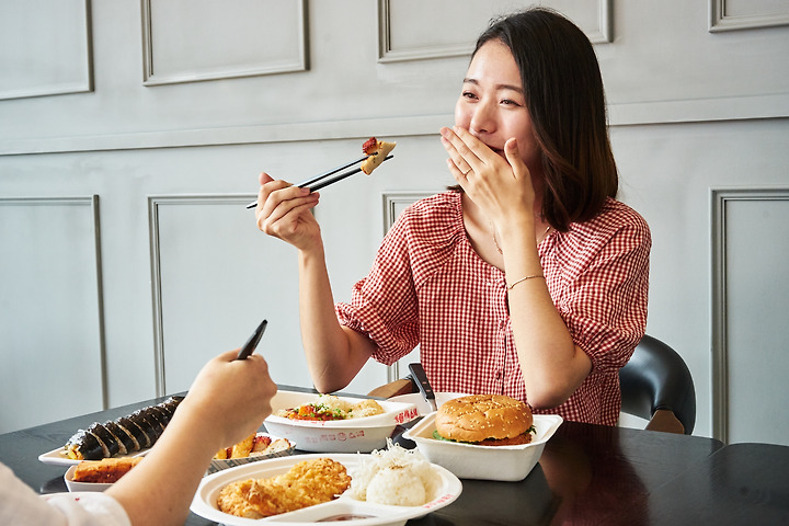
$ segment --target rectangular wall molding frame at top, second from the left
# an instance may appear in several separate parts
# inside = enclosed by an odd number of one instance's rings
[[[289,73],[307,70],[307,7],[306,0],[290,0],[296,10],[295,16],[299,23],[293,27],[294,42],[297,46],[295,58],[282,57],[276,60],[261,59],[247,64],[228,65],[215,69],[195,71],[161,71],[157,67],[153,42],[153,0],[141,0],[142,16],[142,84],[162,85],[183,82],[199,82],[206,80],[238,79],[243,77],[258,77],[264,75]],[[284,2],[279,2],[282,7]],[[265,31],[262,27],[261,31]],[[232,57],[230,57],[232,58]]]

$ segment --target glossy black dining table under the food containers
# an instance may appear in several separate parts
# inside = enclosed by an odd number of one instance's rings
[[[281,389],[310,392],[290,386]],[[67,467],[43,464],[41,454],[62,446],[77,430],[93,422],[164,399],[2,434],[0,461],[39,493],[67,491]],[[400,436],[403,431],[396,428],[395,441],[413,447]],[[461,482],[462,492],[455,502],[408,525],[789,524],[786,446],[725,446],[701,436],[564,422],[524,480]],[[185,524],[216,523],[191,513]]]

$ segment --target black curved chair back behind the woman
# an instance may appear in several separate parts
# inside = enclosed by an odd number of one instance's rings
[[[696,389],[685,361],[672,347],[650,335],[636,346],[619,370],[622,411],[651,420],[666,410],[682,422],[686,435],[696,424]]]

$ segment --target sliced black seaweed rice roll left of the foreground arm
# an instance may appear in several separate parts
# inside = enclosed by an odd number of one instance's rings
[[[68,439],[65,453],[73,460],[100,460],[151,447],[164,432],[181,400],[183,397],[170,397],[117,420],[103,424],[94,422]]]

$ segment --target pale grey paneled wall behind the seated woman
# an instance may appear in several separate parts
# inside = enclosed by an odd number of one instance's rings
[[[0,432],[186,389],[263,317],[274,377],[309,386],[295,251],[243,206],[258,173],[298,181],[398,141],[316,210],[347,299],[391,210],[451,183],[437,132],[469,50],[528,3],[2,2]],[[787,396],[770,262],[789,250],[789,4],[541,3],[595,43],[621,198],[653,231],[648,331],[694,374],[696,433],[786,442],[754,430],[775,411],[762,393]],[[369,364],[348,389],[386,380]]]

